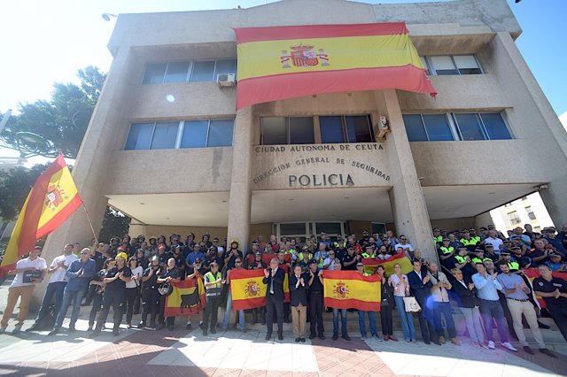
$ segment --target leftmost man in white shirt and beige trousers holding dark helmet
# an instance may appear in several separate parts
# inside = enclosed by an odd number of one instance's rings
[[[16,263],[16,269],[8,273],[15,273],[16,277],[12,281],[10,289],[8,289],[8,302],[4,309],[2,320],[0,321],[0,334],[6,331],[8,321],[12,316],[12,312],[14,311],[14,307],[18,303],[18,298],[20,296],[21,300],[19,302],[18,323],[14,327],[12,334],[17,334],[21,330],[21,326],[27,318],[29,302],[32,299],[35,284],[43,281],[43,278],[47,274],[47,264],[45,263],[45,259],[39,258],[41,253],[42,247],[35,246],[35,249],[29,252],[29,256],[27,258],[20,259]]]

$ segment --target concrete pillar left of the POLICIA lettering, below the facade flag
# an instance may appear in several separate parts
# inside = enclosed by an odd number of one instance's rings
[[[250,240],[252,125],[252,106],[238,110],[232,141],[232,180],[227,242],[237,239],[240,250],[243,252],[248,249]]]

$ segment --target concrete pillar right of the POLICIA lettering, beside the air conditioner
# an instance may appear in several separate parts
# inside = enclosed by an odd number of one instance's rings
[[[393,182],[388,194],[397,235],[408,236],[412,246],[423,251],[424,258],[435,261],[437,250],[433,247],[429,215],[409,148],[398,96],[393,89],[376,92],[376,96],[378,108],[385,109],[380,115],[387,117],[391,130],[386,135],[385,150],[392,170]]]

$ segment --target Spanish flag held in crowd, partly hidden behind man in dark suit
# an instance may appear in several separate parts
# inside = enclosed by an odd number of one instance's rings
[[[280,265],[283,279],[283,302],[290,302],[289,268]],[[230,270],[230,293],[232,293],[232,310],[242,311],[266,305],[266,287],[262,280],[264,270]]]

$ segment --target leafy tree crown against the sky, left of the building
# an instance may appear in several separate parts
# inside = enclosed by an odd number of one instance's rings
[[[0,139],[16,147],[18,133],[33,133],[45,140],[35,154],[54,157],[61,151],[66,158],[76,158],[106,74],[89,65],[77,76],[79,85],[54,83],[50,100],[19,104],[19,114],[8,120]]]

